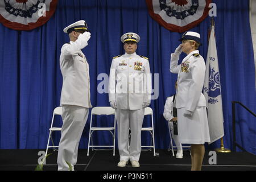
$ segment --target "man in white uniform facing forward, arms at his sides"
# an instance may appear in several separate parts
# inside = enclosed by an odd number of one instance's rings
[[[148,58],[136,54],[139,35],[129,32],[121,36],[124,55],[113,57],[109,76],[109,102],[116,109],[118,125],[118,167],[130,160],[139,167],[141,155],[141,129],[144,108],[150,105],[151,75]],[[131,141],[129,144],[129,128]]]

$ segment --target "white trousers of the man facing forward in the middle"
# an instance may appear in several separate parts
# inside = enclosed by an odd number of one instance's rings
[[[144,109],[117,109],[116,115],[120,161],[128,161],[129,159],[130,161],[139,161],[139,156],[141,155],[141,129],[144,118]],[[131,129],[131,141],[128,150],[129,127]]]

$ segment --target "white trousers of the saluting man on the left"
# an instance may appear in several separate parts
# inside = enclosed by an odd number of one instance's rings
[[[59,171],[68,171],[68,163],[75,166],[77,162],[77,151],[79,142],[88,118],[89,109],[75,105],[63,105],[63,126],[61,127],[61,138],[57,164]]]

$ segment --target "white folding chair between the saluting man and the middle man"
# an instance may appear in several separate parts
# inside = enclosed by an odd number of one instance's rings
[[[93,115],[114,115],[114,126],[112,126],[112,127],[92,127],[93,126],[92,125]],[[113,145],[110,145],[110,146],[93,145],[92,134],[94,131],[109,131],[113,137]],[[113,133],[113,131],[114,131],[114,133]],[[92,145],[90,145],[90,140],[92,140]],[[113,109],[112,107],[93,107],[93,109],[91,111],[91,115],[90,115],[90,131],[89,131],[89,139],[88,139],[87,156],[89,155],[90,147],[92,147],[93,150],[96,150],[96,149],[94,149],[94,147],[113,147],[113,156],[115,155],[115,109]]]

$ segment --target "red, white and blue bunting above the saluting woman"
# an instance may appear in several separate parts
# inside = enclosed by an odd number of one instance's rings
[[[212,0],[146,0],[150,16],[164,28],[184,32],[208,15]]]

